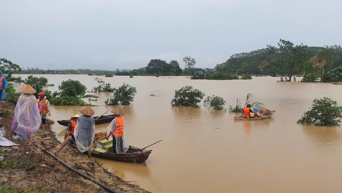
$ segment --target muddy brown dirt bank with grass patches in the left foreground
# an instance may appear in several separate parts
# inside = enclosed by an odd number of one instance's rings
[[[4,101],[0,107],[0,111],[9,112],[0,120],[5,127],[6,137],[11,131],[14,109],[15,105]],[[44,132],[40,129],[33,140],[43,148],[54,146],[49,151],[62,161],[118,192],[148,192],[132,184],[134,182],[123,181],[103,168],[95,157],[88,159],[87,155],[72,147],[66,146],[56,154],[61,143],[49,127]],[[0,161],[0,192],[107,192],[96,183],[68,170],[38,147],[29,146],[27,141],[11,141],[19,146],[0,146],[0,156],[4,157]]]

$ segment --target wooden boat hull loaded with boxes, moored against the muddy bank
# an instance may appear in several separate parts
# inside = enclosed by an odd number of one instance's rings
[[[130,146],[129,149],[124,154],[113,153],[113,151],[106,153],[94,153],[92,152],[92,156],[122,161],[122,162],[133,162],[133,163],[142,163],[148,159],[148,156],[151,154],[152,150],[142,150],[139,148]]]

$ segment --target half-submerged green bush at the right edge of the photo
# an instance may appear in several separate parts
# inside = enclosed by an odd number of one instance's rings
[[[331,98],[314,99],[311,109],[306,111],[297,122],[321,126],[339,125],[342,118],[342,106]]]

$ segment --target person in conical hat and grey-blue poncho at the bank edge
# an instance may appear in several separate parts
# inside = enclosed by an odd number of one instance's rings
[[[95,120],[92,115],[95,111],[90,106],[79,109],[83,115],[77,119],[74,129],[76,147],[80,152],[88,151],[88,157],[92,157],[92,145],[95,139]]]

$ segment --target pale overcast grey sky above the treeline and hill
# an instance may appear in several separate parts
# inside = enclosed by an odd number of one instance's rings
[[[277,45],[340,45],[342,1],[0,0],[0,58],[22,68],[136,69],[191,55],[213,68]]]

